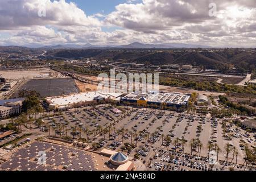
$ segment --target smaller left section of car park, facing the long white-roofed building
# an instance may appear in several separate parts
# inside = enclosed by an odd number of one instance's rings
[[[56,131],[56,135],[67,135],[76,138],[77,135],[85,138],[86,135],[92,135],[92,132],[98,133],[105,129],[110,122],[114,122],[122,113],[113,113],[114,107],[110,105],[101,105],[96,107],[80,107],[66,111],[61,115],[47,117],[44,119],[45,127],[42,131],[48,132],[47,125],[51,126],[51,131]],[[87,132],[86,132],[87,131]]]

